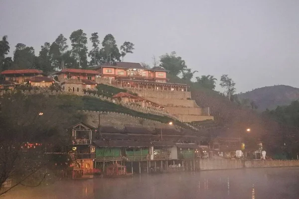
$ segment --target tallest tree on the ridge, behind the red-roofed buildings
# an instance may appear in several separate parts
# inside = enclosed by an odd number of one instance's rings
[[[73,46],[73,53],[77,55],[79,68],[81,68],[81,64],[83,67],[87,67],[87,36],[86,33],[83,32],[82,29],[78,29],[72,32],[70,36],[70,40]],[[81,60],[82,59],[82,60]]]

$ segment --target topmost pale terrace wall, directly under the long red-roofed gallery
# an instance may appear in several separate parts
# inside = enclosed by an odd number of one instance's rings
[[[137,93],[139,96],[145,98],[164,98],[164,99],[187,99],[191,98],[191,92],[185,91],[165,91],[165,90],[147,90],[147,89],[130,89],[126,88],[134,93]]]

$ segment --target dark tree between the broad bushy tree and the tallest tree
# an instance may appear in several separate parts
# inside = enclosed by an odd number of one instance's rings
[[[50,48],[51,45],[49,42],[45,42],[44,45],[40,46],[41,50],[39,51],[38,62],[39,69],[45,72],[52,70],[51,57],[50,57]]]

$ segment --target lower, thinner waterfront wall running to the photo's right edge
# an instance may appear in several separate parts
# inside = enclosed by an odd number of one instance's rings
[[[299,167],[298,160],[251,160],[245,161],[245,168]]]

